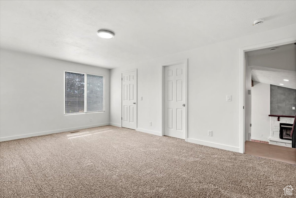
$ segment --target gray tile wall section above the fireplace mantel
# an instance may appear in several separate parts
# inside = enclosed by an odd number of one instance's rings
[[[270,114],[295,116],[296,90],[270,85]]]

